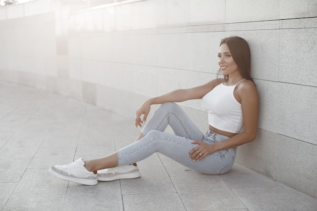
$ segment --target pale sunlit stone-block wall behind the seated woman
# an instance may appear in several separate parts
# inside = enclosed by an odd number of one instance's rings
[[[317,197],[316,1],[86,3],[0,8],[0,79],[133,118],[148,97],[215,78],[220,39],[243,36],[260,118],[256,141],[239,147],[236,161]],[[200,101],[181,106],[206,131]]]

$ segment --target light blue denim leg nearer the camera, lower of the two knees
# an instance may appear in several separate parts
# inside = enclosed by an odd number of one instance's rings
[[[204,141],[206,140],[204,139]],[[197,146],[191,142],[192,140],[185,137],[150,131],[143,139],[118,151],[118,165],[138,162],[155,152],[159,152],[195,171],[205,174],[219,174],[223,168],[224,154],[216,152],[201,161],[189,160],[188,152]]]

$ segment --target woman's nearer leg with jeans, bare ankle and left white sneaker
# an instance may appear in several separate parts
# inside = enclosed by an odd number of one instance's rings
[[[229,137],[219,134],[207,133],[203,141],[208,144],[213,144],[228,138]],[[84,161],[80,158],[66,165],[52,166],[50,167],[50,173],[63,180],[95,185],[97,184],[97,175],[93,172],[98,168],[110,168],[116,164],[119,166],[127,165],[131,162],[143,160],[155,152],[160,152],[204,174],[223,174],[230,170],[234,163],[236,149],[219,150],[200,161],[193,161],[189,159],[187,154],[192,148],[196,147],[197,144],[192,144],[191,142],[192,140],[185,137],[160,131],[151,131],[141,140],[120,149],[117,153],[97,159],[101,161],[101,166],[95,165],[95,168],[93,168],[94,165],[89,165],[95,164],[95,162],[90,163],[89,161],[86,162],[85,165]]]

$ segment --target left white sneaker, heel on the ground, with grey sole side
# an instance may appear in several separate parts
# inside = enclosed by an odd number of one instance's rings
[[[89,172],[84,166],[82,158],[66,165],[54,165],[49,168],[49,172],[62,180],[81,183],[84,185],[96,185],[97,175]]]

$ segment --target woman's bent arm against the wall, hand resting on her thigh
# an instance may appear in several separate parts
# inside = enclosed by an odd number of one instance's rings
[[[253,141],[256,138],[259,102],[255,85],[252,81],[245,81],[244,83],[241,83],[235,91],[236,96],[239,97],[241,101],[245,130],[229,139],[217,142],[215,144],[206,144],[200,141],[192,142],[193,144],[200,144],[200,146],[197,146],[196,148],[197,151],[202,154],[202,156],[196,160],[202,160],[207,155],[218,150],[230,149],[243,145]],[[196,151],[194,149],[192,151]],[[192,151],[189,153],[189,155],[191,155],[192,159],[195,159],[196,155]]]

